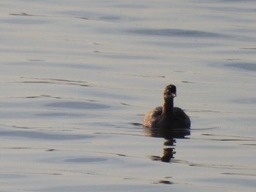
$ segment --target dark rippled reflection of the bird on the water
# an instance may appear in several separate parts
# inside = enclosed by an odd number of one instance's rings
[[[170,163],[176,154],[176,140],[185,139],[186,136],[190,135],[189,129],[144,128],[144,132],[148,137],[160,137],[165,139],[164,145],[167,147],[164,147],[163,155],[161,157],[151,155],[151,160],[166,163]]]

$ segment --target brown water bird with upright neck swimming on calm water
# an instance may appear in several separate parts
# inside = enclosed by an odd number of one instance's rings
[[[189,116],[181,108],[173,107],[173,99],[177,96],[176,86],[167,85],[163,95],[163,106],[148,112],[143,118],[143,126],[168,129],[190,128]]]

